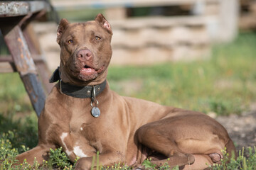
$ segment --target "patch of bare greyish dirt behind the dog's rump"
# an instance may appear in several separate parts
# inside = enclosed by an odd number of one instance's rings
[[[228,130],[238,150],[256,145],[256,108],[241,115],[218,116],[216,120]]]

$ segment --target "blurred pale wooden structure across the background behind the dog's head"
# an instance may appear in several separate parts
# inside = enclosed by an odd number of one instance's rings
[[[207,60],[215,42],[232,42],[238,30],[255,28],[255,1],[53,0],[60,18],[84,22],[103,13],[113,29],[112,64]],[[50,69],[58,62],[56,24],[37,23]],[[157,57],[156,57],[157,56]],[[58,57],[57,59],[58,60]]]

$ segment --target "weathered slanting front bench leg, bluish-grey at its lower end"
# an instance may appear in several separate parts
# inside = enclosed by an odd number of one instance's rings
[[[13,57],[14,64],[25,86],[36,114],[43,110],[46,95],[36,76],[36,66],[28,50],[28,45],[18,26],[1,28],[4,40]]]

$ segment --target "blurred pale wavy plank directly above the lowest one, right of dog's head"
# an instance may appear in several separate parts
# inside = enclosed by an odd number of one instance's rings
[[[122,39],[120,38],[122,37]],[[136,31],[116,30],[112,38],[112,48],[139,48],[150,45],[173,47],[174,45],[204,45],[210,44],[206,28],[191,29],[186,26],[156,29],[144,28]]]

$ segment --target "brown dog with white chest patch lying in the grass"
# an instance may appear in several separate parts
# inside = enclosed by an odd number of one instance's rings
[[[38,120],[37,147],[18,155],[41,164],[50,148],[63,147],[76,169],[90,169],[100,152],[100,164],[124,162],[138,166],[152,158],[181,169],[205,169],[218,163],[225,147],[235,151],[227,131],[203,113],[122,97],[107,84],[112,29],[98,14],[95,21],[60,21],[57,42],[60,68]],[[169,159],[167,159],[169,158]]]

